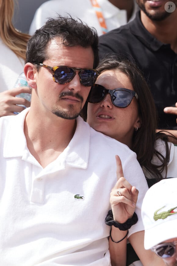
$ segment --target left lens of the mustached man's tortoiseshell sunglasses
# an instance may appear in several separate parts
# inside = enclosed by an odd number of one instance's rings
[[[54,78],[55,81],[60,84],[65,84],[70,81],[74,75],[74,70],[67,66],[60,66],[55,70]]]

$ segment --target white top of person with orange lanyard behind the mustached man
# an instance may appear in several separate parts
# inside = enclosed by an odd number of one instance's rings
[[[97,2],[103,13],[108,31],[127,23],[126,10],[118,9],[108,0],[97,0]],[[98,35],[103,34],[95,9],[92,7],[90,0],[50,0],[44,2],[34,14],[29,34],[32,35],[38,28],[41,28],[45,24],[47,18],[53,18],[57,13],[62,16],[67,16],[67,13],[69,13],[74,18],[78,17],[86,22],[88,26],[96,28]]]

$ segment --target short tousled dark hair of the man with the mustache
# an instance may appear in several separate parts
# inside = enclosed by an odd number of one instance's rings
[[[43,63],[48,58],[47,48],[52,39],[61,38],[64,46],[91,47],[94,54],[94,65],[99,62],[98,57],[98,35],[95,28],[88,27],[80,19],[71,16],[49,18],[45,25],[36,30],[27,43],[26,63]],[[40,66],[38,66],[40,68]],[[37,68],[38,68],[37,67]]]

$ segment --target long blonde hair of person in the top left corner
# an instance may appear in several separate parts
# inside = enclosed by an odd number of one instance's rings
[[[30,35],[14,28],[12,23],[13,11],[13,0],[0,0],[0,36],[7,47],[25,60],[27,41]]]

